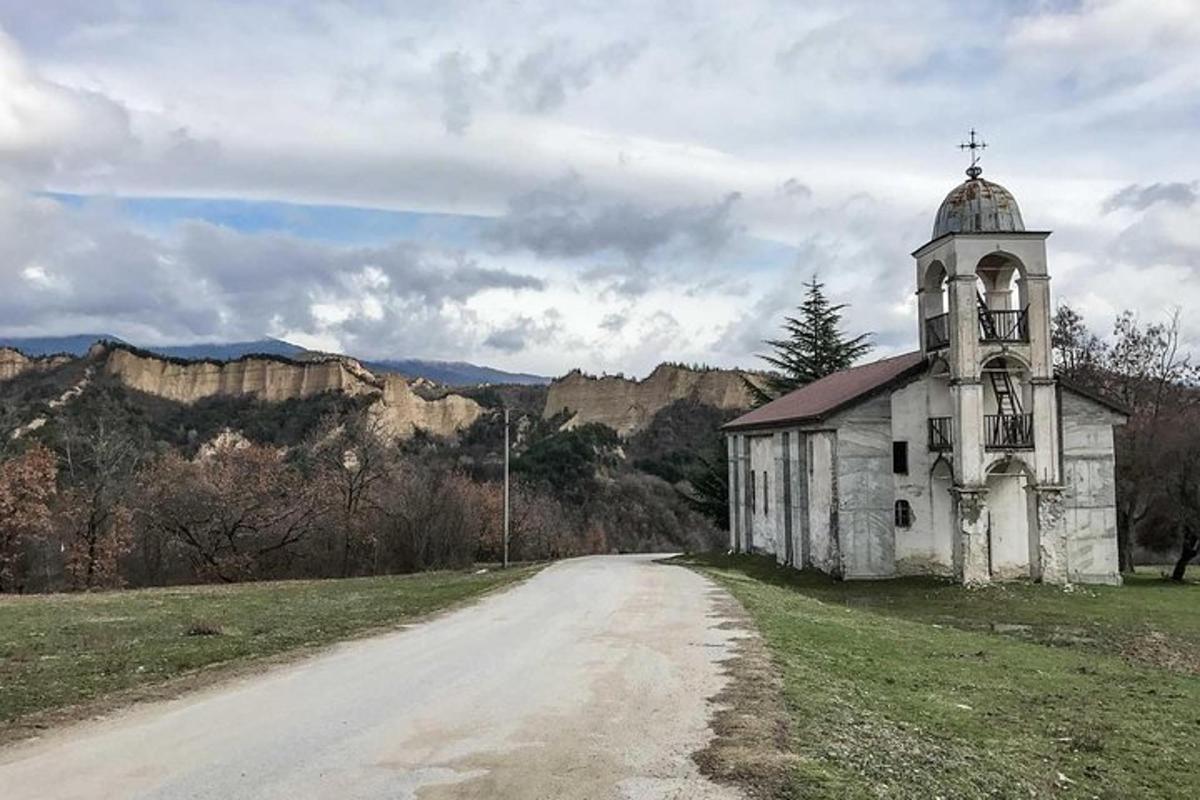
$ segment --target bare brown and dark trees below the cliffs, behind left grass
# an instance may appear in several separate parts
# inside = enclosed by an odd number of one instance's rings
[[[0,452],[0,591],[498,561],[503,493],[492,467],[502,451],[491,440],[503,435],[499,416],[480,420],[462,443],[402,441],[368,409],[347,405],[295,446],[228,433],[193,453],[155,440],[110,392],[88,393],[40,435],[6,440]],[[695,531],[712,527],[673,503],[670,486],[618,468],[613,432],[523,426],[511,558],[707,546]],[[472,450],[480,438],[486,444]]]

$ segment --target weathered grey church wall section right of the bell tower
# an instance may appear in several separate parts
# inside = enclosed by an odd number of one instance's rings
[[[1112,426],[1124,420],[1074,392],[1060,397],[1068,578],[1120,583]]]

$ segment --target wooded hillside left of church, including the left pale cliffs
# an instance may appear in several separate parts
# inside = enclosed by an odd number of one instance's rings
[[[403,428],[396,380],[341,360],[163,360],[126,345],[23,366],[0,380],[0,590],[498,560],[504,408],[514,559],[724,541],[690,480],[728,411],[680,399],[620,437],[545,416],[544,386],[406,384],[410,403],[475,410]]]

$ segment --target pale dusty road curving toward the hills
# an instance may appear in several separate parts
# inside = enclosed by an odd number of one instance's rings
[[[0,795],[740,796],[691,760],[721,591],[648,557],[556,564],[475,606],[0,750]]]

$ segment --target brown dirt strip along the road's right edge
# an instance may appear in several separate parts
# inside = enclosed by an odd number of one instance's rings
[[[722,593],[724,594],[724,593]],[[730,596],[719,601],[722,627],[746,631],[724,662],[728,682],[714,698],[715,736],[692,754],[700,771],[742,789],[749,798],[790,798],[790,776],[799,762],[791,752],[792,727],[779,668],[772,662],[750,615]]]

